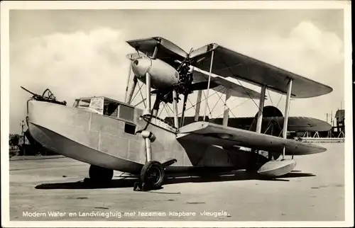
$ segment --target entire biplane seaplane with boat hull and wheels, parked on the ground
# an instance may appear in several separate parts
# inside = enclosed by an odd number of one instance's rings
[[[332,92],[331,87],[216,43],[190,52],[161,37],[127,43],[134,51],[127,55],[130,71],[124,101],[92,96],[77,98],[67,106],[53,94],[33,93],[27,102],[26,120],[33,139],[55,153],[90,164],[91,181],[107,183],[114,171],[121,171],[138,176],[138,189],[150,190],[161,188],[167,173],[174,172],[205,175],[209,171],[245,169],[275,178],[293,171],[294,156],[327,150],[318,144],[288,139],[287,132],[290,99],[322,96]],[[261,87],[261,92],[231,79]],[[144,109],[132,104],[138,84],[146,88],[146,98],[142,96],[141,102]],[[277,108],[264,107],[266,89],[286,96],[284,116]],[[207,103],[210,90],[224,95],[224,104],[231,96],[257,99],[258,113],[246,120],[248,127],[238,127],[233,124],[238,121],[229,122],[229,108],[224,105],[223,118],[209,120],[207,106],[204,115],[200,115],[200,108],[202,92],[207,93]],[[187,98],[195,91],[195,116],[185,117]],[[173,106],[170,120],[158,117],[164,104]],[[281,123],[282,131],[265,133],[269,126],[263,122],[274,117],[273,125]],[[322,120],[296,119],[294,127],[324,128]]]

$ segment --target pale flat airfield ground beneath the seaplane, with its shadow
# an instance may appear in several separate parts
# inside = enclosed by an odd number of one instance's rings
[[[13,157],[10,220],[341,221],[344,143],[324,146],[323,154],[295,157],[295,171],[275,181],[237,171],[221,181],[176,178],[151,192],[133,191],[134,181],[119,179],[119,172],[111,186],[92,188],[83,183],[89,165],[80,161]]]

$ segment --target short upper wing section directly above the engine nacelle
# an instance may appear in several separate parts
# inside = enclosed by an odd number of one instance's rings
[[[162,59],[165,62],[174,62],[175,60],[183,60],[187,57],[187,53],[182,50],[178,45],[166,40],[165,38],[154,37],[138,40],[126,41],[131,47],[143,52],[148,56],[153,56],[155,46],[159,44],[158,59]]]

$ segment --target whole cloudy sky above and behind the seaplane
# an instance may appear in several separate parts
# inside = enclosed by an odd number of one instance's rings
[[[49,88],[70,106],[75,98],[87,96],[124,101],[130,67],[126,55],[134,52],[126,40],[152,36],[166,38],[187,52],[215,42],[327,84],[332,93],[295,99],[290,106],[290,116],[325,120],[326,113],[334,116],[341,103],[344,108],[343,23],[343,11],[337,9],[11,11],[10,133],[21,132],[31,96],[20,86],[35,93]],[[266,95],[271,97],[265,105],[284,113],[285,96],[271,91]],[[219,96],[210,98],[211,109]],[[192,103],[195,97],[190,96]],[[231,98],[227,106],[236,107],[231,117],[254,116],[256,104],[258,100]],[[194,113],[192,108],[187,115]],[[219,102],[212,117],[222,113]]]

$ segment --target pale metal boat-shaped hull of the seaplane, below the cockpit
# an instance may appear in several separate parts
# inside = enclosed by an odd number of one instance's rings
[[[146,125],[144,120],[139,120],[142,111],[135,109],[133,121],[141,128]],[[42,101],[28,102],[28,129],[33,139],[43,147],[87,164],[140,173],[146,163],[145,144],[140,134],[124,132],[125,123],[125,120],[80,108]],[[173,128],[167,126],[162,122],[152,122],[148,127],[158,137],[152,144],[153,159],[161,162],[168,158],[178,160],[166,171],[231,171],[245,166],[240,162],[227,161],[228,152],[220,147],[179,142]],[[239,154],[241,156],[244,155]]]

